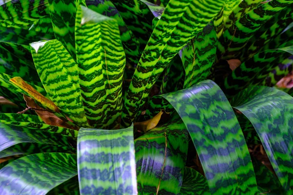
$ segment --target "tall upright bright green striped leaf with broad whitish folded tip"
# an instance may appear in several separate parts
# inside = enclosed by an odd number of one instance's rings
[[[77,11],[76,53],[86,118],[95,128],[113,129],[122,113],[125,53],[116,20],[84,6]]]

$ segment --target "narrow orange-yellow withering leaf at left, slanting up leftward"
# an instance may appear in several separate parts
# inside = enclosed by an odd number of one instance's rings
[[[57,113],[60,112],[59,108],[54,104],[53,101],[51,101],[48,98],[45,98],[42,94],[40,94],[35,88],[33,88],[30,84],[25,82],[22,78],[14,77],[9,80],[10,82],[14,83],[19,88],[21,88],[23,91],[25,91],[31,98],[40,102],[44,107]]]

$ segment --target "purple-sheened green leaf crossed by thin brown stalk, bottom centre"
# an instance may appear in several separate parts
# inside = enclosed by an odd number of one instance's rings
[[[188,132],[176,114],[134,140],[138,191],[178,195],[188,150]]]

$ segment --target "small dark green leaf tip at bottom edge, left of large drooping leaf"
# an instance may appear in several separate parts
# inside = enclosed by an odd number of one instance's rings
[[[207,179],[194,169],[185,167],[180,195],[210,195]]]

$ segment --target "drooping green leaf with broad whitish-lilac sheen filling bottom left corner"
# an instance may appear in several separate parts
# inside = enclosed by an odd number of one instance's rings
[[[41,153],[24,156],[0,170],[0,194],[45,195],[76,175],[76,155]]]

